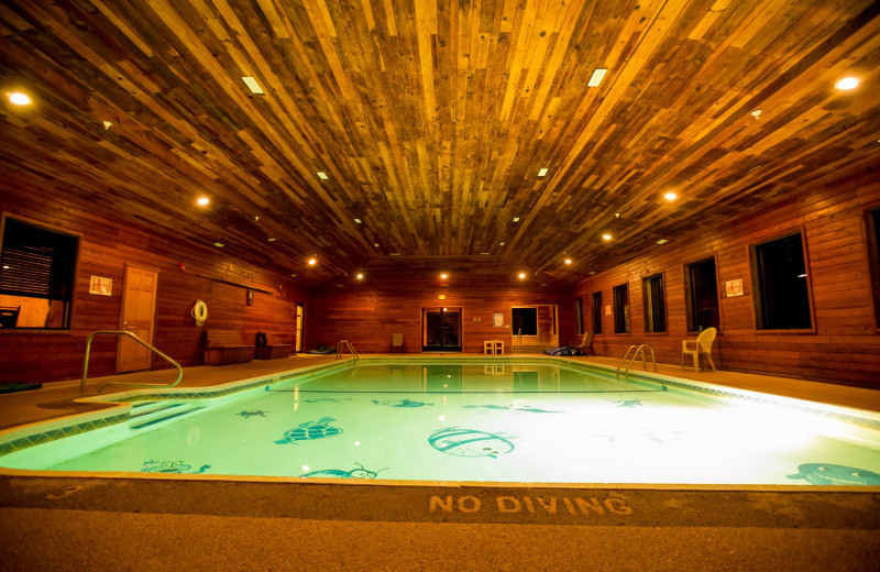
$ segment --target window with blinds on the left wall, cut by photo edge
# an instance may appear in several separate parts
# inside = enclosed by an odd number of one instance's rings
[[[0,328],[69,329],[79,239],[3,220]]]

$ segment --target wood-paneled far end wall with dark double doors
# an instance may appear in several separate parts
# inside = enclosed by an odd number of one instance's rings
[[[571,293],[540,286],[535,277],[520,282],[509,272],[453,273],[449,280],[427,270],[367,273],[362,283],[329,283],[312,290],[307,311],[308,348],[351,340],[359,352],[387,352],[392,334],[404,334],[406,353],[421,352],[422,308],[461,307],[462,352],[482,353],[484,340],[513,342],[510,309],[515,306],[559,305],[561,331],[574,330]],[[439,296],[446,296],[440,300]],[[504,315],[504,327],[493,326],[493,314]],[[563,339],[563,341],[570,341]]]

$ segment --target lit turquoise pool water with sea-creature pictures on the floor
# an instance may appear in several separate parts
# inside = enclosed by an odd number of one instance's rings
[[[805,402],[712,396],[711,389],[618,380],[557,360],[365,360],[277,380],[220,398],[138,400],[123,422],[22,448],[0,457],[0,466],[396,481],[880,485],[880,424],[859,426],[847,411]]]

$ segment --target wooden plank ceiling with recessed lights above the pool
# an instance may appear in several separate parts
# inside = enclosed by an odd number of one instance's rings
[[[437,256],[571,283],[876,168],[879,11],[4,0],[0,88],[34,103],[3,100],[0,161],[13,185],[221,242],[308,285]],[[836,90],[849,74],[859,88]]]

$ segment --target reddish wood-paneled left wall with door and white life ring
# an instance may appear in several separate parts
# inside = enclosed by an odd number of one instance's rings
[[[53,382],[78,378],[87,337],[96,330],[117,330],[127,264],[158,272],[154,345],[184,366],[204,363],[205,328],[231,329],[246,336],[263,330],[275,339],[293,340],[296,302],[308,302],[308,292],[290,278],[262,271],[223,256],[211,245],[204,250],[174,240],[174,231],[148,231],[95,212],[75,200],[45,200],[38,189],[0,183],[0,210],[45,224],[59,231],[80,234],[79,262],[69,331],[2,331],[0,333],[0,382]],[[182,270],[179,265],[185,267]],[[244,288],[205,278],[258,286],[276,294],[254,293],[246,305]],[[113,280],[112,296],[89,294],[90,276]],[[208,305],[205,328],[190,317],[197,299]],[[113,374],[117,340],[98,337],[92,343],[89,377]],[[169,367],[154,358],[154,369]]]

